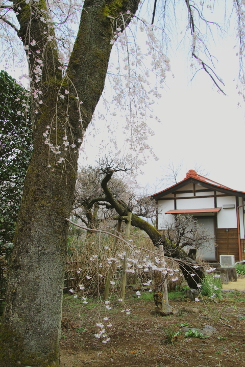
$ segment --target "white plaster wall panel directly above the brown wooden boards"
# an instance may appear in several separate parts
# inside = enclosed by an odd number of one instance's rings
[[[218,228],[237,228],[236,208],[223,209],[222,206],[226,204],[236,204],[236,197],[217,197],[217,207],[222,208],[217,214]]]

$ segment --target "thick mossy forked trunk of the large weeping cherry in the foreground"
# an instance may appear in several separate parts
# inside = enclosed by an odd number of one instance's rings
[[[18,12],[19,36],[23,45],[30,47],[27,53],[32,92],[42,92],[42,103],[37,105],[38,114],[34,113],[35,107],[32,111],[34,149],[14,237],[0,332],[0,365],[57,367],[68,231],[65,218],[70,215],[74,195],[79,139],[82,140],[104,89],[113,34],[108,15],[121,16],[127,10],[134,14],[138,0],[85,0],[67,69],[69,79],[65,80],[58,69],[55,38],[47,39],[46,24],[40,21],[41,17],[48,17],[45,1],[26,4],[14,0],[13,6]],[[55,35],[52,23],[48,33]],[[38,47],[30,46],[30,40],[35,40]],[[35,82],[40,58],[37,48],[43,61],[39,83]],[[69,89],[68,103],[67,96],[59,98],[65,89]],[[77,96],[83,101],[82,122]],[[47,125],[52,126],[50,141],[60,146],[65,158],[62,164],[57,163],[58,154],[49,154],[48,145],[44,144]],[[76,151],[69,147],[65,150],[64,135],[70,144],[76,145]]]

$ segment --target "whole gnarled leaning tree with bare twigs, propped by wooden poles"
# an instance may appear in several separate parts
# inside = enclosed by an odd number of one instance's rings
[[[132,207],[128,205],[124,201],[118,201],[112,194],[108,182],[110,181],[112,175],[117,170],[120,170],[120,164],[118,165],[115,162],[108,162],[106,161],[104,163],[104,166],[102,165],[101,170],[104,172],[105,176],[102,180],[101,186],[104,190],[104,193],[106,195],[107,201],[111,204],[111,206],[115,209],[115,211],[118,213],[119,216],[127,216],[128,212],[132,211]],[[145,231],[149,237],[151,238],[153,244],[157,247],[159,245],[163,245],[164,248],[164,254],[166,256],[170,256],[175,258],[175,260],[178,262],[180,269],[189,285],[192,289],[198,289],[198,284],[202,282],[202,278],[204,275],[204,270],[202,267],[198,266],[197,261],[194,260],[193,256],[189,256],[183,249],[186,245],[190,245],[191,240],[191,233],[192,230],[190,230],[184,225],[180,226],[182,228],[182,231],[180,231],[180,239],[178,242],[174,242],[176,240],[176,237],[173,237],[173,233],[169,231],[167,237],[169,237],[168,241],[165,242],[165,239],[162,238],[162,234],[149,222],[146,222],[144,219],[140,218],[142,216],[142,213],[132,213],[131,218],[131,225],[140,228],[141,230]],[[193,224],[193,223],[192,223]],[[186,233],[186,242],[183,243],[183,240],[185,238],[184,232]],[[172,237],[170,237],[170,233]],[[201,235],[202,230],[198,233],[197,242],[202,242],[202,240],[199,238]],[[194,240],[194,237],[197,233],[195,233],[192,237]],[[204,235],[205,234],[205,235]],[[204,241],[208,240],[208,235],[206,233],[202,233],[202,237],[204,235]],[[177,235],[178,237],[178,235]],[[173,240],[170,241],[170,240]],[[194,244],[194,241],[192,241]],[[182,246],[183,245],[183,246]],[[200,245],[200,244],[199,244]]]

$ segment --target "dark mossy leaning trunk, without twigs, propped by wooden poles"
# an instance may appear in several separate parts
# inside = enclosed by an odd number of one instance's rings
[[[105,192],[107,201],[115,209],[118,215],[127,216],[129,208],[124,202],[117,200],[108,187],[108,182],[114,172],[115,171],[113,170],[113,168],[108,167],[106,169],[105,177],[102,180],[101,186]],[[173,257],[175,261],[177,261],[189,287],[192,289],[198,289],[197,284],[200,284],[202,282],[204,270],[201,266],[198,266],[198,263],[195,260],[190,258],[181,247],[165,243],[162,239],[162,234],[153,225],[133,213],[131,225],[145,231],[152,240],[153,245],[157,247],[159,247],[159,245],[163,245],[164,255]],[[194,268],[197,266],[198,268]]]

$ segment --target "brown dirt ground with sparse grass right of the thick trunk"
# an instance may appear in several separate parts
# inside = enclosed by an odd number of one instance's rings
[[[222,300],[191,302],[182,292],[169,296],[178,309],[175,316],[157,317],[151,294],[138,299],[128,291],[130,314],[121,312],[117,298],[112,309],[97,299],[64,295],[61,339],[62,367],[244,367],[245,366],[245,293],[226,292]],[[196,307],[198,313],[187,313],[184,307]],[[108,321],[103,321],[104,317]],[[96,323],[103,322],[110,341],[96,339]],[[111,323],[111,327],[106,325]],[[213,326],[217,333],[206,339],[184,337],[181,324],[202,329]],[[167,335],[180,332],[177,340],[167,344]]]

